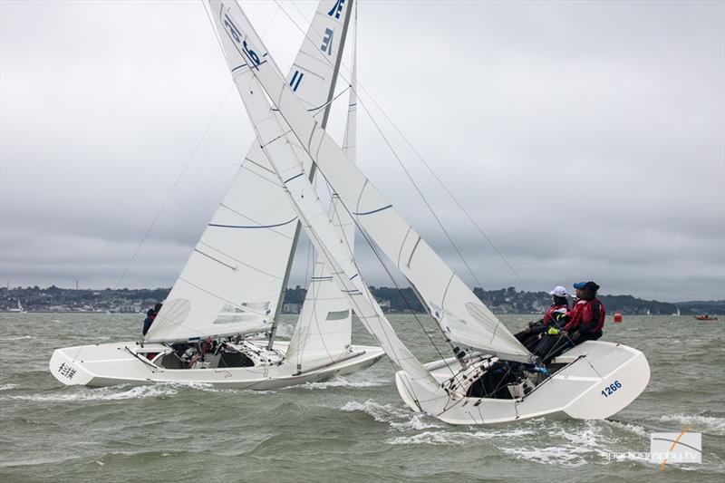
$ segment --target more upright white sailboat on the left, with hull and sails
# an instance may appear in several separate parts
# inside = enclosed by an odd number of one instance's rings
[[[320,2],[285,82],[323,128],[353,8],[352,0],[342,4]],[[281,75],[266,56],[257,62]],[[247,68],[247,63],[232,65],[232,76]],[[351,109],[344,140],[351,157],[354,131]],[[58,349],[50,361],[58,381],[91,386],[201,382],[268,390],[357,371],[382,357],[379,347],[353,345],[350,305],[336,285],[326,283],[332,279],[321,261],[291,341],[275,339],[300,223],[260,144],[256,141],[247,153],[143,340]],[[312,159],[304,151],[295,156],[312,179]],[[338,211],[333,203],[325,217],[352,254],[350,220]],[[259,333],[268,336],[255,338]],[[211,339],[225,345],[201,349]]]

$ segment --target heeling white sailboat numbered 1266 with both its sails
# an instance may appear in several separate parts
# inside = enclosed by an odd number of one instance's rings
[[[343,5],[339,0],[338,5]],[[237,90],[276,179],[318,255],[355,314],[396,370],[401,398],[413,411],[454,424],[489,424],[541,416],[602,419],[621,411],[647,386],[649,365],[640,351],[587,341],[556,358],[550,374],[534,370],[487,391],[489,379],[512,362],[534,362],[478,297],[400,216],[362,171],[295,98],[269,62],[264,44],[234,2],[208,0]],[[285,139],[283,139],[285,138]],[[292,139],[292,141],[290,141]],[[368,290],[351,252],[341,243],[309,182],[304,152],[335,198],[419,295],[455,357],[421,363],[401,342]],[[503,362],[503,363],[501,363]],[[525,365],[531,368],[531,366]],[[500,383],[500,382],[499,382]]]

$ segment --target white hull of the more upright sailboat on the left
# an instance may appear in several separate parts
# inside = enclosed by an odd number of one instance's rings
[[[228,389],[274,390],[305,382],[315,382],[362,370],[381,359],[382,349],[353,345],[353,352],[339,362],[298,373],[289,362],[254,367],[209,369],[166,369],[150,362],[145,353],[169,353],[169,348],[135,342],[104,343],[57,349],[51,357],[50,372],[65,385],[114,386],[178,382],[211,384]],[[275,343],[275,351],[284,354],[286,342]],[[158,362],[158,357],[151,357]]]

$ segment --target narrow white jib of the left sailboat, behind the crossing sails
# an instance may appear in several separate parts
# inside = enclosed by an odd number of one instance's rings
[[[356,105],[355,94],[356,54],[353,50],[353,76],[348,101],[347,123],[343,150],[348,159],[355,160]],[[328,209],[330,221],[353,254],[355,224],[333,194]],[[285,359],[295,362],[299,371],[307,367],[332,363],[352,351],[353,314],[347,297],[340,292],[330,274],[324,257],[316,256],[313,275],[307,285],[302,312],[295,326]]]

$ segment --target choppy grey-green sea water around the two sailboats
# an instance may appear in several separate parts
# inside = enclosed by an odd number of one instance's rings
[[[528,315],[502,316],[512,328]],[[725,478],[722,324],[625,316],[604,340],[642,350],[652,380],[611,420],[449,426],[409,411],[389,362],[280,391],[205,386],[63,387],[53,349],[133,340],[143,315],[0,314],[3,481],[719,481]],[[295,318],[285,316],[283,334]],[[424,362],[415,319],[391,323]],[[372,343],[360,327],[355,342]],[[651,432],[702,433],[702,464],[659,467]],[[612,453],[624,454],[613,458]]]

